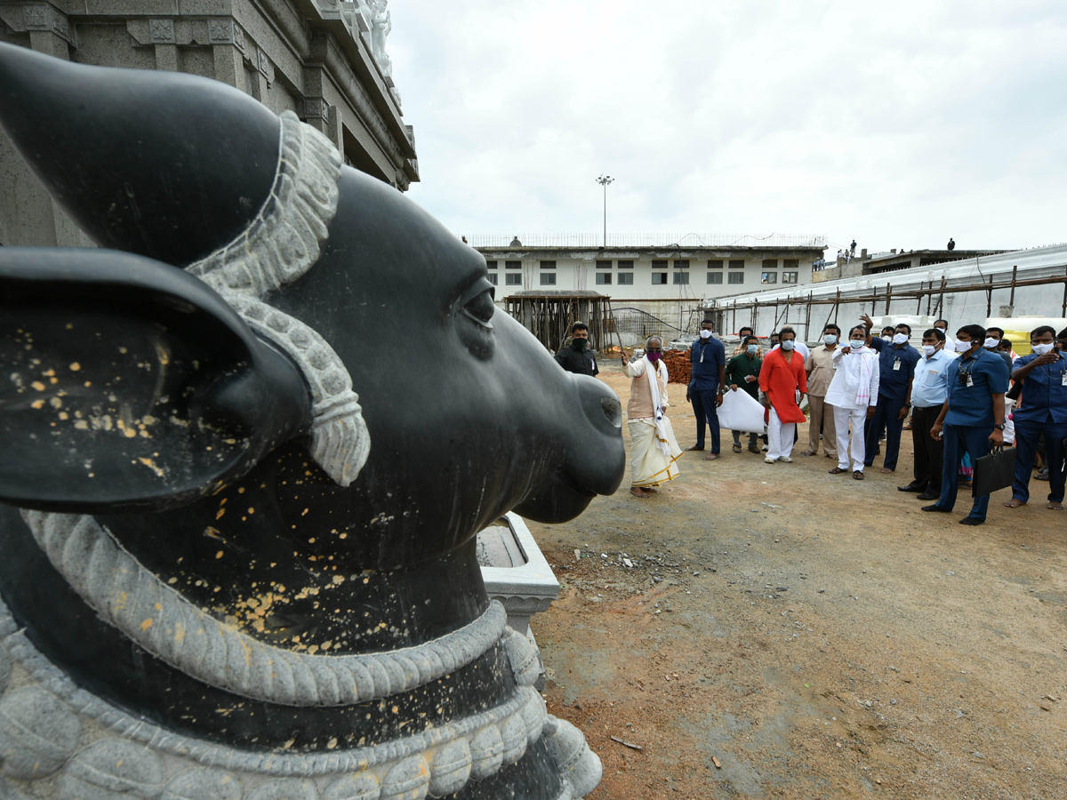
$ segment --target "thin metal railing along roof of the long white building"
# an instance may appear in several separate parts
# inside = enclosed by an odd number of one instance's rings
[[[472,247],[582,247],[604,246],[602,234],[472,234]],[[608,247],[826,247],[826,237],[814,234],[608,234]]]

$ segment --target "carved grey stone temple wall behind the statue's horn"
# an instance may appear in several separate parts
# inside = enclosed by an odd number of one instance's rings
[[[405,190],[418,161],[385,52],[391,27],[383,0],[0,0],[0,42],[214,78],[294,112],[346,163]],[[0,244],[93,246],[2,131]]]

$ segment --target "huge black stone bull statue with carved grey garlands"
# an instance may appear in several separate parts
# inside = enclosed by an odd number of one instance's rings
[[[0,124],[101,247],[0,247],[0,797],[593,788],[474,537],[614,492],[617,398],[291,113],[0,45]]]

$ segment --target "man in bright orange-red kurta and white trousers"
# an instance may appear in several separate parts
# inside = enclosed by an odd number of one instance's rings
[[[794,350],[796,332],[783,327],[781,345],[763,357],[760,368],[760,391],[767,406],[767,458],[764,461],[791,462],[793,439],[797,422],[806,417],[800,411],[799,397],[808,394],[808,375],[803,370],[803,356]]]

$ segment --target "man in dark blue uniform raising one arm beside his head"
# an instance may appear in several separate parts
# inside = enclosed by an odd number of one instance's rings
[[[872,320],[861,317],[864,326],[870,330]],[[870,323],[870,324],[869,324]],[[866,452],[863,463],[871,466],[874,463],[875,449],[881,429],[886,429],[886,461],[881,467],[883,473],[896,469],[896,459],[901,454],[901,431],[904,419],[911,407],[911,381],[915,375],[915,364],[919,363],[919,351],[908,343],[911,338],[911,326],[899,324],[893,333],[892,341],[874,338],[871,347],[878,351],[878,406],[871,418],[866,437]]]

